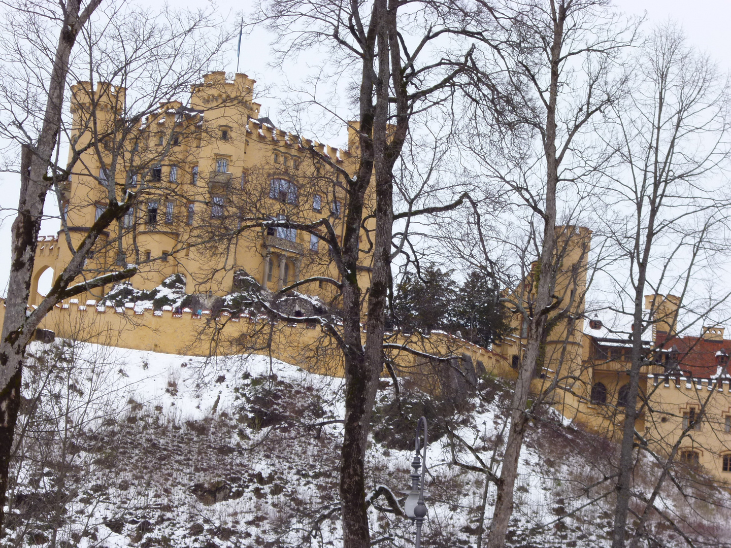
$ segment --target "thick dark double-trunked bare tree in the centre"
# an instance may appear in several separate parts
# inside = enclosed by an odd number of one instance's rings
[[[387,0],[319,2],[277,0],[262,4],[257,20],[268,24],[286,54],[311,50],[313,45],[336,46],[339,66],[354,75],[357,161],[352,171],[327,162],[340,172],[346,190],[342,242],[325,220],[295,224],[314,233],[333,248],[341,281],[343,326],[337,339],[345,363],[345,429],[341,460],[344,543],[367,547],[370,533],[366,514],[364,454],[368,423],[379,374],[383,369],[385,308],[390,290],[394,213],[395,166],[409,137],[412,115],[450,96],[450,86],[468,66],[469,47],[460,56],[442,55],[443,42],[459,34],[471,12],[459,2],[421,2],[419,9]],[[408,39],[407,39],[408,37]],[[468,57],[466,57],[468,56]],[[317,154],[311,148],[312,154]],[[326,161],[322,155],[321,161]],[[413,213],[405,213],[405,216]],[[374,234],[368,286],[358,281],[363,218],[373,216]],[[276,225],[270,225],[276,226]],[[366,341],[360,322],[367,311]],[[336,333],[333,332],[333,336]]]

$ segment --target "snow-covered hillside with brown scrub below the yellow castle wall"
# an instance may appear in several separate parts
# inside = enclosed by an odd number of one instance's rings
[[[425,546],[475,546],[489,524],[508,389],[438,401],[381,383],[368,452],[374,544],[412,546],[379,487],[406,488],[413,428],[430,419]],[[262,356],[204,360],[83,343],[34,343],[24,379],[7,546],[340,547],[342,381]],[[400,409],[399,409],[400,408]],[[536,417],[521,455],[511,547],[603,547],[611,456],[603,438]],[[652,475],[646,467],[647,478]],[[649,482],[637,477],[637,490]],[[689,485],[689,490],[692,486]],[[726,497],[719,492],[719,500]],[[724,499],[724,503],[728,503]],[[728,514],[661,497],[664,546],[695,528],[729,538]]]

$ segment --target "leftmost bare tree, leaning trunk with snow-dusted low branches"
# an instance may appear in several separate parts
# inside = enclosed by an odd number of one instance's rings
[[[186,93],[221,47],[222,37],[193,45],[211,26],[206,12],[168,11],[162,23],[163,18],[131,4],[110,4],[104,11],[98,9],[100,4],[101,0],[5,4],[0,45],[4,61],[0,133],[12,140],[14,150],[21,154],[20,201],[12,227],[12,262],[0,343],[0,520],[26,345],[45,314],[60,300],[137,272],[136,265],[123,263],[104,269],[101,275],[86,274],[87,259],[99,235],[113,224],[121,224],[118,221],[135,203],[136,192],[129,188],[122,169],[123,151],[133,150],[130,137],[139,132],[151,107],[156,109],[159,101]],[[56,43],[50,41],[54,34],[58,35]],[[81,90],[95,99],[87,103],[88,110],[79,113],[77,126],[72,126],[64,115],[64,105],[69,104],[69,83],[78,80],[86,80],[88,85],[100,83],[96,88],[76,88],[75,94]],[[118,93],[140,81],[148,86],[140,86],[137,99],[125,99],[124,93]],[[101,102],[105,102],[105,123],[99,123],[101,109],[97,107]],[[59,159],[66,145],[64,137],[72,145],[69,161]],[[59,200],[71,259],[58,273],[48,295],[28,314],[37,236],[48,194],[55,191],[62,197],[72,173],[88,174],[77,163],[80,156],[86,151],[99,154],[105,147],[115,151],[110,166],[102,163],[107,171],[99,172],[108,190],[107,207],[83,237],[72,241]],[[165,153],[167,149],[162,157]]]

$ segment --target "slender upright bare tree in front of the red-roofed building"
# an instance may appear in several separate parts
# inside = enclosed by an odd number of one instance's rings
[[[648,290],[678,295],[685,330],[702,327],[700,322],[709,313],[720,312],[728,297],[718,287],[708,294],[698,290],[705,268],[727,249],[724,232],[729,197],[723,185],[714,182],[731,154],[727,77],[688,47],[673,26],[654,30],[633,64],[637,67],[635,88],[626,102],[613,105],[622,164],[613,180],[617,222],[610,232],[613,245],[623,255],[617,266],[624,269],[624,273],[613,272],[613,279],[619,302],[627,303],[617,310],[632,319],[632,364],[618,463],[613,548],[625,545],[633,492],[635,422],[647,405],[643,401],[637,407],[637,398],[643,396],[643,367],[652,361],[642,335],[650,329],[667,331],[669,337],[661,344],[666,350],[673,346],[673,335],[678,335],[675,328],[667,327],[678,321],[678,312],[673,312],[674,318],[665,317],[664,300],[657,299],[648,318],[643,296]],[[672,462],[675,449],[669,453]],[[643,501],[645,511],[632,536],[633,547],[643,536],[645,516],[653,501]]]

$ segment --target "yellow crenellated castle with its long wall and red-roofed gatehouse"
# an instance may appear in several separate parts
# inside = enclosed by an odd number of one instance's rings
[[[357,124],[349,126],[348,150],[306,140],[262,117],[253,88],[254,80],[246,75],[227,79],[223,72],[213,72],[194,86],[189,106],[162,104],[124,142],[115,140],[114,131],[108,132],[108,142],[102,141],[101,150],[88,148],[77,162],[79,169],[59,189],[61,220],[67,230],[38,243],[31,305],[39,298],[41,275],[48,269],[60,272],[69,262],[69,248],[103,213],[110,192],[138,192],[137,208],[100,238],[88,259],[88,275],[133,262],[140,267],[131,280],[135,289],[151,290],[180,275],[185,294],[196,295],[197,305],[156,308],[132,301],[108,305],[105,296],[112,288],[102,287],[58,305],[44,320],[45,329],[135,349],[205,355],[212,350],[201,334],[212,325],[223,334],[217,335],[214,351],[236,353],[241,338],[250,336],[260,323],[255,317],[218,313],[213,302],[238,289],[238,273],[251,275],[268,290],[311,276],[337,277],[333,258],[317,237],[287,227],[238,229],[247,213],[257,211],[293,223],[327,216],[341,235],[346,199],[338,173],[355,169]],[[77,149],[91,139],[85,128],[92,112],[102,126],[114,126],[125,93],[105,83],[96,88],[78,83],[72,88],[72,141]],[[309,147],[316,154],[306,153]],[[366,210],[372,210],[372,204]],[[372,216],[364,216],[364,249],[373,230]],[[602,330],[598,319],[589,321],[585,330],[590,245],[587,229],[558,229],[561,269],[555,291],[564,302],[564,314],[551,324],[533,392],[539,395],[550,388],[548,402],[567,419],[616,438],[626,405],[629,340],[591,335]],[[371,254],[364,252],[358,273],[361,286],[368,286],[370,264]],[[531,297],[531,275],[512,293],[518,304]],[[336,298],[331,286],[322,282],[300,289],[323,302]],[[651,359],[643,366],[640,392],[645,406],[637,430],[649,449],[658,454],[675,450],[682,465],[702,466],[716,480],[727,482],[731,378],[726,366],[731,340],[723,338],[720,327],[704,328],[700,337],[679,336],[679,305],[670,295],[647,297],[646,308],[656,322],[653,340],[645,342]],[[408,341],[401,336],[399,342],[420,346],[425,354],[455,356],[456,368],[468,384],[485,373],[515,378],[526,332],[520,314],[513,316],[512,324],[514,334],[491,349],[439,333]],[[333,363],[328,363],[327,353],[306,357],[307,349],[319,344],[321,333],[314,327],[282,322],[270,335],[273,354],[311,370],[341,373],[336,357]],[[394,359],[412,373],[430,367],[428,360],[413,354],[394,353]],[[688,429],[690,435],[676,444]]]

